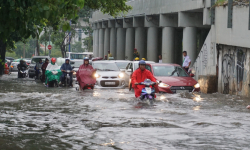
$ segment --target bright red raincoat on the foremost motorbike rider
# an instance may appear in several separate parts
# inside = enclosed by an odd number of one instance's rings
[[[135,91],[136,98],[141,96],[141,91],[145,87],[145,85],[135,85],[135,83],[136,82],[141,83],[145,81],[145,79],[150,79],[152,82],[156,82],[156,79],[153,76],[153,74],[147,69],[145,69],[144,71],[141,71],[141,69],[139,68],[133,72],[131,82],[132,82],[132,87],[134,88],[134,91]],[[158,86],[156,85],[155,88],[157,92]]]

